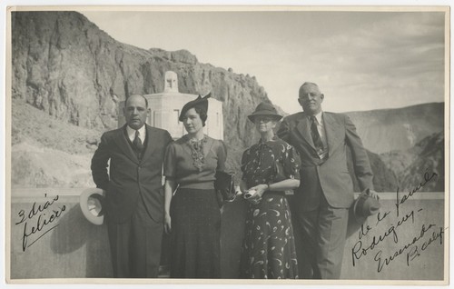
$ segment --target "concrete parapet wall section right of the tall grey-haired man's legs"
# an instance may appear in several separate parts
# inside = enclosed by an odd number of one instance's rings
[[[414,194],[399,205],[399,215],[396,194],[380,203],[380,214],[350,232],[341,278],[443,280],[444,194]]]

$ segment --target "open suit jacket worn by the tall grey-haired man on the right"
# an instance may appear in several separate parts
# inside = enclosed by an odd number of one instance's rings
[[[293,145],[301,157],[301,184],[296,190],[298,207],[304,211],[315,209],[324,194],[328,204],[348,208],[353,202],[353,184],[347,169],[346,147],[350,147],[354,171],[361,191],[372,189],[373,174],[369,157],[362,146],[355,125],[347,115],[323,112],[323,124],[328,142],[328,158],[321,161],[311,138],[311,122],[303,112],[284,118],[277,133]],[[318,184],[321,185],[321,191]]]

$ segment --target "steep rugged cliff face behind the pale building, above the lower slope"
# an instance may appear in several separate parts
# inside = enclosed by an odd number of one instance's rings
[[[63,122],[114,128],[117,103],[133,93],[163,92],[163,76],[177,73],[179,91],[221,100],[225,138],[251,145],[247,122],[256,105],[270,102],[255,77],[201,64],[188,51],[143,50],[115,41],[75,12],[12,14],[13,98]],[[246,137],[248,136],[248,137]]]

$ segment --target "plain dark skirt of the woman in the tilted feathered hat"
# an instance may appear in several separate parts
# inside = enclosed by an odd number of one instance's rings
[[[214,190],[178,189],[171,204],[172,278],[221,277],[221,212]]]

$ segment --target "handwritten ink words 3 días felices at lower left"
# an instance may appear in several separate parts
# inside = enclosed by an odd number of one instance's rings
[[[47,194],[44,194],[47,197]],[[58,226],[57,219],[66,210],[66,206],[54,204],[58,201],[58,195],[52,200],[46,200],[44,204],[32,204],[27,210],[20,210],[18,214],[20,220],[15,225],[23,225],[22,251],[35,244],[40,238],[54,230]]]

